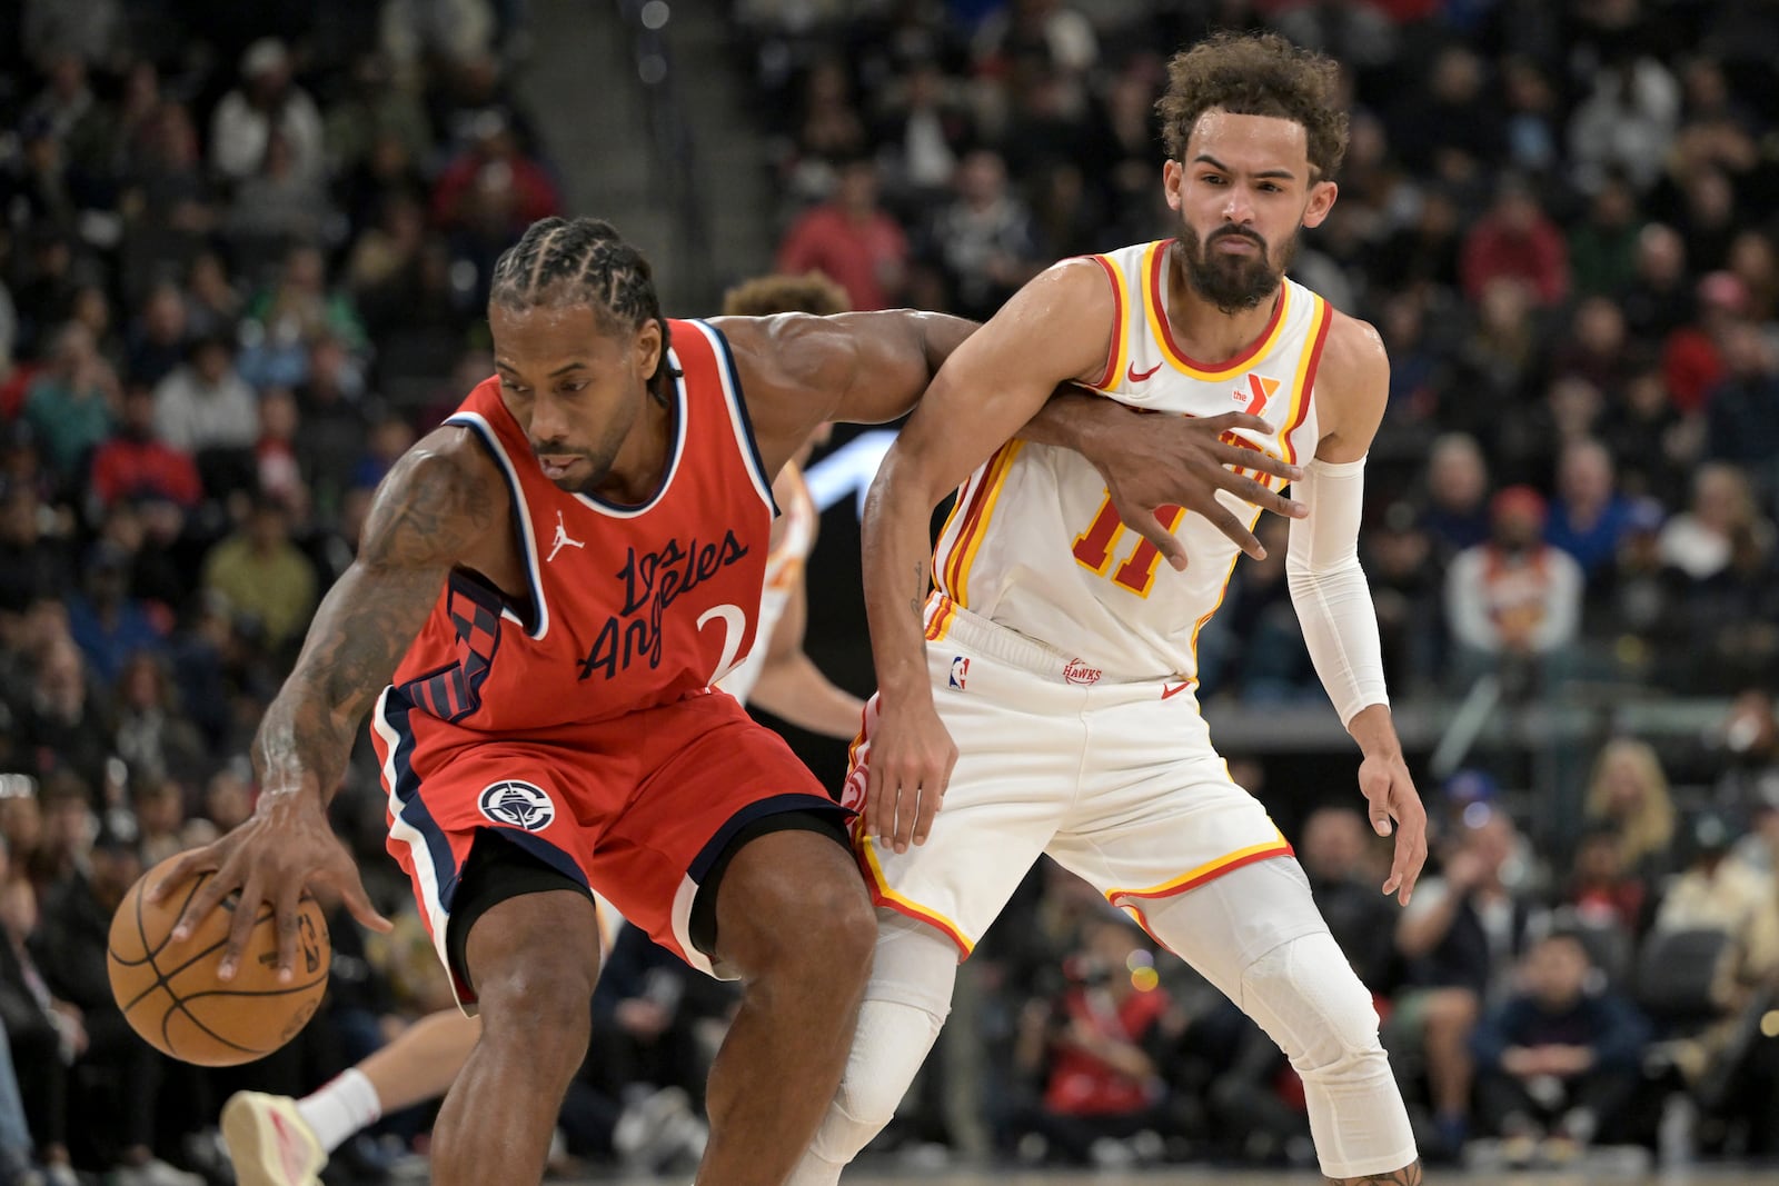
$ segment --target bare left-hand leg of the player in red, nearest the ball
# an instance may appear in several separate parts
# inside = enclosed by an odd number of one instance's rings
[[[592,1024],[592,900],[569,889],[505,898],[470,925],[463,964],[480,1001],[482,1037],[439,1111],[432,1181],[541,1181]]]

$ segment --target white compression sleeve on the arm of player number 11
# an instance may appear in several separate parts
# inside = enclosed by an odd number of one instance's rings
[[[1345,725],[1363,708],[1389,704],[1377,608],[1359,567],[1364,459],[1311,461],[1295,487],[1292,494],[1309,507],[1309,517],[1292,523],[1284,574],[1309,660]]]

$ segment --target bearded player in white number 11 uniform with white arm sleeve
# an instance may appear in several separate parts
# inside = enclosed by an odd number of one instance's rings
[[[838,1181],[890,1120],[946,1015],[957,962],[1041,853],[1133,914],[1290,1054],[1329,1179],[1421,1181],[1370,992],[1199,715],[1194,644],[1236,544],[1211,519],[1162,507],[1176,537],[1163,564],[1121,525],[1099,471],[1014,439],[1062,382],[1133,414],[1235,407],[1265,421],[1240,439],[1304,469],[1292,597],[1364,754],[1372,823],[1397,836],[1382,891],[1405,903],[1425,813],[1357,562],[1388,359],[1370,325],[1283,279],[1299,229],[1334,203],[1347,142],[1336,89],[1332,60],[1276,36],[1220,34],[1176,55],[1160,114],[1178,238],[1026,284],[950,356],[879,471],[865,517],[879,692],[847,802],[865,811],[854,839],[881,937],[845,1079],[792,1186]],[[929,516],[959,484],[934,557]],[[1252,526],[1256,510],[1226,503]]]

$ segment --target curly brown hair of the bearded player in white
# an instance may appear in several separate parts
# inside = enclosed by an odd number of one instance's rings
[[[1183,162],[1199,116],[1276,116],[1304,126],[1313,181],[1327,181],[1347,155],[1347,112],[1338,105],[1340,64],[1279,34],[1219,32],[1167,62],[1156,101],[1167,155]]]

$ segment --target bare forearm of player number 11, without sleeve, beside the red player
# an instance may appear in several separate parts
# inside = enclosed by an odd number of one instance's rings
[[[932,702],[923,621],[936,501],[922,496],[909,450],[898,443],[865,500],[865,615],[884,708]]]

